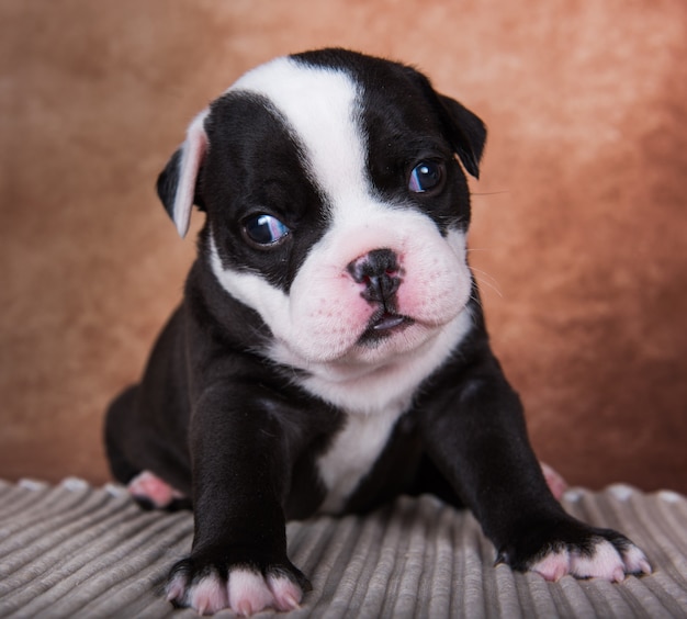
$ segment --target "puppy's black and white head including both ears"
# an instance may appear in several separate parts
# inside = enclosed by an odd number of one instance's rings
[[[341,49],[246,74],[158,180],[183,236],[300,367],[379,363],[453,323],[472,281],[470,196],[486,132],[416,70]],[[459,162],[460,161],[460,162]]]

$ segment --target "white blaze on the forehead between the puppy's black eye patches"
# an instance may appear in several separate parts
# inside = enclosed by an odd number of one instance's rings
[[[359,123],[361,87],[346,72],[278,58],[241,77],[228,92],[267,97],[305,148],[311,172],[329,199],[368,193],[365,138]]]

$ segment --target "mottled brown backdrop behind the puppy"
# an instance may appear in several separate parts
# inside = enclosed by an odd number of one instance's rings
[[[471,259],[541,458],[687,492],[686,8],[0,0],[0,476],[108,479],[103,408],[193,255],[158,171],[243,71],[344,45],[489,127]]]

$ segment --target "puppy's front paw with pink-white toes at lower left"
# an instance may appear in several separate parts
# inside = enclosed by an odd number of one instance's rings
[[[262,569],[213,563],[200,567],[192,559],[172,569],[167,584],[167,599],[176,607],[190,607],[200,615],[213,615],[230,608],[250,617],[273,608],[288,611],[299,608],[309,583],[290,563]]]

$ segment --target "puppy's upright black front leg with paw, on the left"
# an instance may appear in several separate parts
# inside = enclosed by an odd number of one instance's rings
[[[206,389],[191,419],[193,549],[172,567],[167,596],[200,614],[291,610],[309,587],[286,556],[284,434],[252,390]]]

